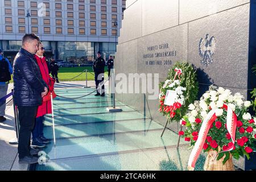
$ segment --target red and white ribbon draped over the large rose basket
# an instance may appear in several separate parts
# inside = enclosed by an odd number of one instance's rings
[[[234,113],[234,111],[228,105],[224,104],[224,106],[222,108],[228,110],[227,120],[226,120],[226,128],[232,138],[232,143],[233,143],[228,148],[226,148],[225,151],[222,151],[222,152],[226,152],[226,151],[233,150],[234,142],[236,141],[237,115],[236,115],[236,113]],[[205,139],[207,138],[207,134],[209,132],[210,125],[212,125],[212,123],[217,119],[217,116],[215,113],[216,113],[216,109],[211,110],[202,123],[201,129],[199,131],[199,137],[197,138],[195,146],[193,147],[193,150],[188,159],[188,170],[193,170],[195,168],[196,161],[199,158],[199,155],[200,155],[201,150],[203,149],[203,146],[205,143]],[[220,154],[220,152],[218,154]],[[216,156],[215,156],[215,158],[216,158]]]

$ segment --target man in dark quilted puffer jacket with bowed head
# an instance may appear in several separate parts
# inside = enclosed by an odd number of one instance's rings
[[[31,131],[35,125],[36,111],[42,104],[48,88],[40,74],[35,60],[39,38],[35,34],[26,34],[22,38],[20,48],[14,59],[14,104],[18,106],[19,118],[19,163],[37,163],[38,158],[32,156],[36,150],[30,147]]]

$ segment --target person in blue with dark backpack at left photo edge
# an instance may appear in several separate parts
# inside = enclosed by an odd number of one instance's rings
[[[11,74],[13,74],[13,68],[10,61],[3,57],[3,50],[0,49],[0,98],[5,97],[8,90],[8,84],[11,80]],[[0,122],[6,121],[5,109],[6,101],[0,102]]]

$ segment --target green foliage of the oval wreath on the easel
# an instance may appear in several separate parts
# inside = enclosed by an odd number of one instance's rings
[[[175,80],[179,80],[180,84],[179,86],[185,88],[183,90],[183,96],[184,96],[184,103],[179,107],[178,109],[175,110],[175,115],[171,116],[170,111],[164,111],[164,108],[167,108],[168,106],[163,105],[164,98],[166,96],[167,90],[174,89],[174,88],[169,88],[168,85],[166,88],[163,88],[165,82],[160,82],[159,88],[160,88],[160,95],[159,95],[159,111],[160,113],[163,113],[163,115],[166,115],[168,121],[180,121],[182,119],[183,115],[187,113],[188,110],[188,105],[192,104],[196,99],[197,99],[197,94],[199,92],[199,82],[197,81],[197,74],[196,74],[196,69],[193,68],[193,66],[189,63],[185,62],[177,62],[173,65],[172,68],[169,69],[168,76],[166,80],[170,80],[170,84],[174,82],[174,77],[176,75],[175,68],[181,69],[182,73],[180,75],[180,80],[179,77],[177,76]]]

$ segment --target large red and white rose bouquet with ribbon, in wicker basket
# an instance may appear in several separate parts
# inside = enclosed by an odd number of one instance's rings
[[[243,101],[240,93],[232,95],[228,89],[211,85],[200,101],[189,105],[189,113],[181,119],[187,129],[179,135],[190,142],[193,150],[188,168],[195,167],[201,150],[215,151],[213,160],[225,164],[233,156],[239,159],[256,150],[256,119],[247,112],[250,101]]]

